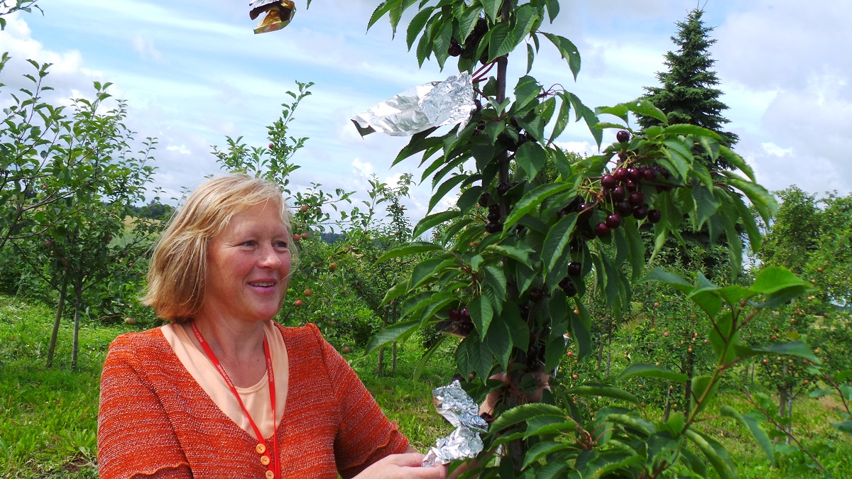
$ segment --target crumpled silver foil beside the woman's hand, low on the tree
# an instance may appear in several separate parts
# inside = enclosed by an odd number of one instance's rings
[[[432,391],[435,410],[456,426],[449,436],[435,441],[423,458],[423,466],[450,464],[454,460],[475,458],[482,451],[479,433],[488,432],[488,423],[479,416],[479,406],[453,381]]]

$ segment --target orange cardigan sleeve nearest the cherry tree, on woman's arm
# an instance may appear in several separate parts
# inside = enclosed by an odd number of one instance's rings
[[[331,387],[340,405],[340,427],[334,441],[337,471],[344,478],[356,476],[385,456],[404,453],[408,447],[406,436],[385,417],[352,366],[322,338],[316,326],[309,326],[320,340]]]

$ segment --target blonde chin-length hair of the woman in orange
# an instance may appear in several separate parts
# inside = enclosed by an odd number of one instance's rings
[[[222,233],[234,215],[262,203],[275,206],[287,231],[292,231],[290,212],[277,184],[247,175],[218,176],[202,183],[154,245],[142,303],[164,320],[191,320],[204,303],[210,240]],[[291,254],[295,265],[295,247]]]

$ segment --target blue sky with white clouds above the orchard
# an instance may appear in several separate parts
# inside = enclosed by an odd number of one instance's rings
[[[314,82],[291,123],[292,136],[308,137],[294,157],[302,168],[291,184],[320,183],[363,198],[372,175],[394,184],[417,171],[417,160],[391,168],[407,140],[362,138],[348,118],[458,72],[452,62],[443,72],[435,62],[417,67],[406,50],[405,18],[393,40],[387,18],[367,32],[378,3],[314,0],[306,9],[297,0],[291,25],[255,35],[247,1],[43,0],[43,14],[4,16],[0,52],[13,59],[0,72],[0,103],[26,85],[22,75],[33,72],[26,59],[53,64],[48,83],[57,103],[91,98],[93,82],[112,82],[109,92],[127,101],[136,137],[158,138],[155,183],[168,200],[221,172],[210,152],[226,145],[227,136],[266,145],[266,126],[290,100],[285,92],[296,90],[296,81]],[[757,181],[769,190],[796,185],[817,195],[852,193],[852,2],[563,1],[560,16],[540,30],[577,45],[579,77],[545,43],[531,74],[544,87],[561,84],[589,107],[633,100],[643,87],[658,85],[664,55],[676,49],[675,24],[697,6],[705,9],[705,25],[715,28],[711,56],[728,105],[727,129],[740,136],[735,151]],[[509,78],[525,66],[523,53],[510,57]],[[604,141],[614,141],[614,133]],[[569,127],[558,144],[597,151],[584,124]],[[427,181],[406,200],[415,221],[428,202]]]

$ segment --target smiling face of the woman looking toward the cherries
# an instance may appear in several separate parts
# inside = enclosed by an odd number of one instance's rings
[[[250,206],[234,215],[210,240],[204,303],[196,319],[272,319],[287,291],[289,242],[290,232],[273,205]]]

